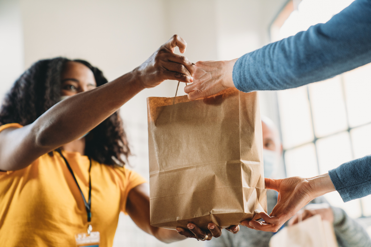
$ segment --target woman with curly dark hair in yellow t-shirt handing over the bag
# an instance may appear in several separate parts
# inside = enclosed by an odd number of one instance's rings
[[[193,64],[176,46],[183,53],[186,43],[175,35],[111,82],[88,62],[62,57],[20,76],[0,110],[0,246],[75,246],[97,232],[99,246],[112,246],[120,211],[164,242],[220,235],[218,227],[177,229],[184,236],[152,227],[148,185],[124,167],[130,150],[119,107],[164,80],[193,81]]]

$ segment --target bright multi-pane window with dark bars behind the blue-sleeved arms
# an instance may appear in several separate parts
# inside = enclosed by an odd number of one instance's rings
[[[351,2],[290,1],[271,26],[272,40],[325,23]],[[278,91],[287,176],[316,176],[371,154],[370,92],[371,64],[308,86]],[[371,196],[347,203],[336,191],[325,197],[351,217],[371,216]]]

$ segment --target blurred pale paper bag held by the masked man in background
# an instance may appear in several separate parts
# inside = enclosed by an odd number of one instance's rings
[[[319,214],[284,227],[269,241],[269,247],[338,247],[334,227]]]

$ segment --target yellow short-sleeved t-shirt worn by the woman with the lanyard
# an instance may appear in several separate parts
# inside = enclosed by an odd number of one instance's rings
[[[19,124],[0,126],[0,131]],[[88,200],[89,158],[62,151]],[[112,246],[129,191],[145,182],[134,171],[92,160],[91,224],[100,247]],[[88,227],[81,193],[56,151],[17,171],[0,172],[0,246],[75,246],[75,234]]]

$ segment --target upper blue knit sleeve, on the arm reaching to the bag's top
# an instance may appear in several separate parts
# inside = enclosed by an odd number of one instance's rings
[[[326,23],[240,57],[240,91],[282,90],[322,81],[371,63],[371,0],[356,0]]]

